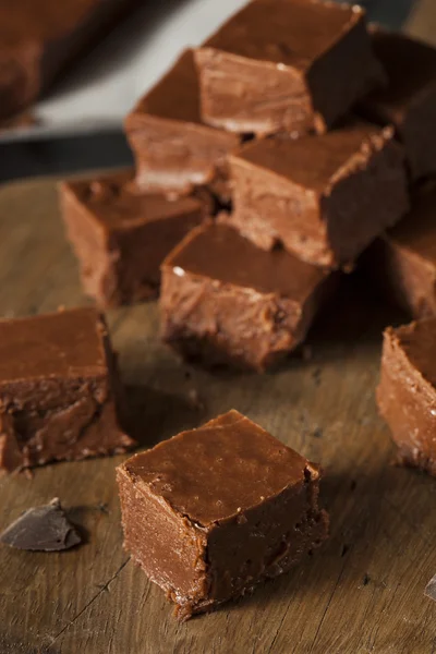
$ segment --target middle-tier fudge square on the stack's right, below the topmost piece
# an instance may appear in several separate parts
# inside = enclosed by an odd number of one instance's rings
[[[390,128],[261,140],[229,161],[232,225],[258,247],[281,243],[315,265],[349,266],[409,209],[404,155]]]

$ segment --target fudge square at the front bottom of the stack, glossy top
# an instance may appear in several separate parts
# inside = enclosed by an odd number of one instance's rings
[[[207,365],[258,372],[304,339],[336,279],[221,223],[193,230],[161,270],[164,340]]]

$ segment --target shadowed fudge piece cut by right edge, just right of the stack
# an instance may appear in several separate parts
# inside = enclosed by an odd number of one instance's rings
[[[363,266],[388,299],[414,318],[436,315],[436,186],[370,247]]]

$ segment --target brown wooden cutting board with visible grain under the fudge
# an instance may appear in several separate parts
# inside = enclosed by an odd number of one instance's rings
[[[0,189],[0,243],[2,316],[86,302],[52,181]],[[374,390],[382,329],[401,316],[367,295],[347,283],[305,356],[264,376],[181,363],[159,342],[155,303],[110,312],[143,447],[234,407],[324,465],[331,537],[252,596],[180,625],[122,549],[122,457],[3,477],[0,529],[59,496],[86,542],[60,554],[0,546],[0,654],[435,652],[436,604],[423,591],[436,572],[436,481],[390,464]]]

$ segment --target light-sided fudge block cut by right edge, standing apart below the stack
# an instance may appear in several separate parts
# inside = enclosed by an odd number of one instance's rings
[[[399,461],[436,475],[436,318],[385,331],[377,403]]]

